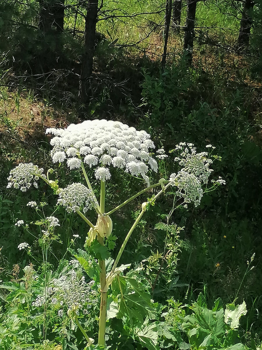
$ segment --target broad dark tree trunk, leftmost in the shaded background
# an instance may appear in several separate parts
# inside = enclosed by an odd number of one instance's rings
[[[52,28],[64,30],[65,0],[39,0],[39,29],[48,33]]]

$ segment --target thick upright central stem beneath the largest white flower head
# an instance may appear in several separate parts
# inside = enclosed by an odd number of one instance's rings
[[[104,214],[105,208],[105,182],[101,180],[100,187],[100,211]],[[101,245],[104,245],[104,239],[97,235],[97,239]],[[99,313],[99,331],[98,331],[98,344],[105,345],[105,324],[107,321],[107,280],[106,280],[106,271],[105,271],[105,261],[99,260],[100,266],[100,313]]]

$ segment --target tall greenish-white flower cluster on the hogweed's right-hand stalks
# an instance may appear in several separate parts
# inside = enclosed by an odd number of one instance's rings
[[[207,152],[196,153],[193,144],[181,142],[175,149],[180,151],[175,161],[179,162],[182,169],[177,174],[171,174],[169,180],[173,186],[177,186],[176,194],[183,197],[185,203],[194,202],[197,207],[203,197],[202,184],[208,183],[213,171],[209,168],[212,160],[207,158]]]

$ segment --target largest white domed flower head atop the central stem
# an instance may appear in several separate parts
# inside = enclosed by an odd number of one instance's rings
[[[70,169],[80,168],[78,157],[81,156],[90,168],[99,166],[96,179],[110,179],[110,171],[105,166],[124,169],[134,176],[141,175],[147,183],[147,165],[157,172],[157,162],[149,153],[155,146],[144,130],[137,131],[118,121],[86,120],[66,129],[49,128],[46,133],[55,135],[50,141],[54,163],[67,160]]]

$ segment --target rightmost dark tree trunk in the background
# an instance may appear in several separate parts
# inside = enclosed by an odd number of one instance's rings
[[[254,7],[254,2],[252,0],[244,0],[242,8],[242,18],[240,22],[240,30],[238,36],[238,47],[248,47],[250,29],[252,26],[252,16],[251,11]]]

